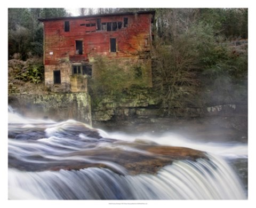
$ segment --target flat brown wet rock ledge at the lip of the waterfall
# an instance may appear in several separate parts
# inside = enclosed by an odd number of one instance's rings
[[[115,145],[116,140],[108,139],[108,142],[113,142]],[[166,147],[158,145],[150,145],[147,143],[120,143],[118,145],[126,146],[123,148],[93,148],[83,151],[75,151],[70,154],[64,154],[64,158],[58,161],[52,161],[51,159],[45,159],[39,155],[30,156],[30,159],[43,161],[44,163],[29,163],[25,161],[19,161],[19,158],[9,157],[9,167],[15,167],[19,170],[26,171],[59,171],[63,170],[79,170],[87,167],[105,167],[118,174],[155,174],[159,169],[165,165],[170,165],[174,161],[189,159],[196,161],[198,158],[207,159],[206,154],[203,151],[194,150],[183,147]],[[71,158],[86,158],[92,159],[94,162],[84,162],[83,159],[73,160]],[[125,171],[116,167],[122,167]]]

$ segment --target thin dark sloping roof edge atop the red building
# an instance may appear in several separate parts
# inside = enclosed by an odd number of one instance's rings
[[[133,14],[152,14],[153,18],[155,16],[155,10],[150,11],[138,11],[138,12],[121,12],[121,13],[108,13],[108,14],[92,14],[92,15],[83,15],[83,16],[76,16],[76,17],[54,17],[54,18],[39,18],[38,20],[41,22],[45,21],[54,21],[54,20],[67,20],[67,19],[81,19],[81,18],[92,18],[92,17],[109,17],[109,16],[116,16],[116,15],[133,15]]]

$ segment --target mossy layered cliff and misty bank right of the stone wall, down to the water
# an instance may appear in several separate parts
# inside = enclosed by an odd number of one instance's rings
[[[149,90],[108,95],[92,101],[92,123],[106,131],[161,134],[174,132],[206,141],[247,141],[247,102],[210,102],[197,108],[179,110],[174,115],[161,98]]]

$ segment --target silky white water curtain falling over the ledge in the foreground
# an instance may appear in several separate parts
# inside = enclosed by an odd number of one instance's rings
[[[14,191],[15,190],[15,191]],[[19,190],[19,191],[17,191]],[[108,169],[9,170],[10,199],[245,199],[225,161],[177,161],[155,175],[119,175]]]

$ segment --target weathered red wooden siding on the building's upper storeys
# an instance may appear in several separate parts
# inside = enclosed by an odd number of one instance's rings
[[[128,26],[116,31],[96,30],[97,17],[81,19],[51,20],[44,22],[44,61],[45,65],[56,65],[60,61],[86,61],[95,55],[109,58],[135,58],[149,51],[151,41],[151,14],[116,15],[99,17],[102,22],[123,22],[128,18]],[[64,30],[69,21],[70,31]],[[110,52],[110,38],[116,38],[117,52]],[[146,40],[147,39],[147,40]],[[76,54],[76,40],[83,41],[83,54]]]

